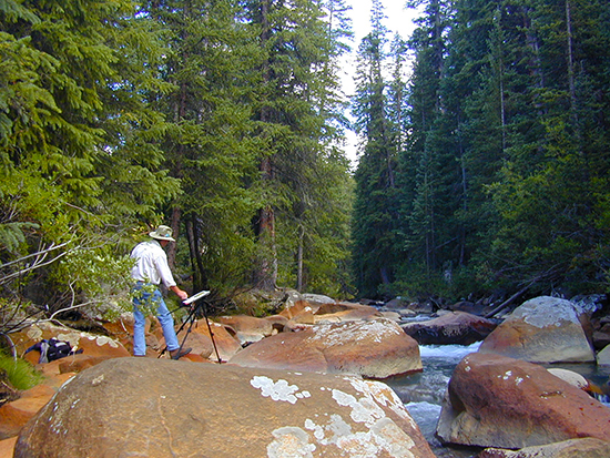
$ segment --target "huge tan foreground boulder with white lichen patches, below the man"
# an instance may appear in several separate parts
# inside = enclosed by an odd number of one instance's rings
[[[118,358],[65,384],[14,458],[434,458],[400,399],[357,377]]]

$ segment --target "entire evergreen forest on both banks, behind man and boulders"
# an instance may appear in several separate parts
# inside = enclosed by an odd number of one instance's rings
[[[218,298],[606,292],[610,3],[405,8],[346,98],[346,0],[0,0],[2,323],[121,301],[157,224]]]

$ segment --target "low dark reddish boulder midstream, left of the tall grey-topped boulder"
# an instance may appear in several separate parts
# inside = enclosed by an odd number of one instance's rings
[[[466,312],[447,312],[427,322],[408,323],[403,329],[419,345],[471,345],[487,337],[496,326]]]

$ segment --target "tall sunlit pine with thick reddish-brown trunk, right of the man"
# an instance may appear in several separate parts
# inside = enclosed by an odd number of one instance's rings
[[[279,268],[277,217],[296,218],[304,227],[306,196],[312,186],[319,186],[309,181],[309,171],[317,167],[321,149],[334,136],[336,68],[329,62],[336,58],[338,29],[324,20],[321,2],[262,0],[247,4],[263,55],[254,109],[262,142],[256,185],[263,195],[254,220],[258,246],[254,283],[272,289]]]

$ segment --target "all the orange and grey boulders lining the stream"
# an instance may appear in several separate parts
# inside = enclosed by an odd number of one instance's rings
[[[434,457],[383,379],[423,369],[418,343],[480,339],[479,352],[451,376],[437,429],[443,441],[480,447],[486,458],[511,457],[520,448],[535,454],[531,447],[551,447],[553,451],[545,449],[549,457],[568,456],[560,454],[575,447],[589,450],[578,456],[609,456],[599,455],[610,444],[607,428],[599,425],[610,423],[610,408],[587,393],[604,387],[575,383],[538,364],[608,364],[599,348],[607,324],[599,304],[541,297],[498,319],[454,307],[407,324],[405,317],[420,312],[415,306],[337,303],[296,293],[287,297],[274,316],[194,323],[181,333],[193,352],[180,362],[167,360],[166,354],[159,358],[164,343],[154,319],[146,332],[149,358],[129,357],[130,316],[104,323],[103,334],[38,324],[13,335],[20,354],[51,337],[82,353],[47,364],[38,364],[35,352],[27,355],[47,381],[0,407],[0,437],[6,439],[0,457],[12,456],[18,437],[16,457],[40,456],[37,450],[49,449],[55,439],[89,451],[45,456],[109,456],[95,455],[103,446],[79,429],[84,420],[75,420],[77,411],[91,418],[88,430],[100,438],[116,431],[118,444],[129,426],[130,442],[146,440],[152,447],[148,456],[167,456],[167,447],[189,456],[192,446],[213,447],[214,456],[244,447],[252,455],[240,451],[242,457],[293,456],[285,455],[288,450],[312,457]],[[135,381],[128,384],[130,377]],[[138,389],[125,391],[121,380]],[[103,394],[93,395],[98,391]],[[192,403],[182,405],[182,398]],[[199,414],[190,413],[191,404]],[[134,414],[142,406],[154,408],[145,421],[134,423],[142,418]],[[165,428],[156,430],[159,425]],[[582,437],[590,439],[573,441]],[[522,455],[528,456],[536,455]]]

